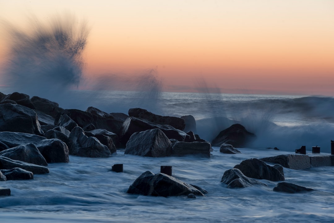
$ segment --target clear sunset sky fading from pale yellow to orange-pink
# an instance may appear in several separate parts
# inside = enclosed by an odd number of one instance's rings
[[[334,96],[333,0],[0,0],[22,27],[64,11],[91,28],[91,78],[154,69],[165,91]]]

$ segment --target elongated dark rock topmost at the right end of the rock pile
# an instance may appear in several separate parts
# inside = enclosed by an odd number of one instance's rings
[[[170,125],[178,130],[184,130],[185,127],[185,121],[184,119],[178,118],[178,117],[172,117],[172,116],[160,116],[155,115],[151,112],[149,112],[146,109],[142,108],[130,108],[129,109],[129,116],[135,117],[135,118],[141,118],[145,119],[149,122],[159,124],[159,125]]]

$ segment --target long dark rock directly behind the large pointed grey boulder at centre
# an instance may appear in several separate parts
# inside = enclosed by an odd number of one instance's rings
[[[126,144],[132,134],[150,129],[160,129],[168,137],[168,139],[176,139],[180,142],[183,142],[186,137],[189,137],[185,132],[175,129],[169,125],[158,125],[144,119],[129,117],[125,120],[121,128],[120,141],[121,143]]]

